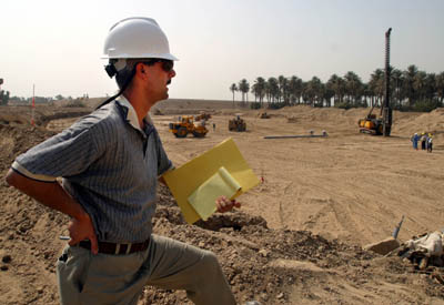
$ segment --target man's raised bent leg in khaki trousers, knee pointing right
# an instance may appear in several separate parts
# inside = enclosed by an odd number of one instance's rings
[[[194,304],[235,304],[216,256],[192,245],[153,234],[145,262],[148,285],[185,289]]]

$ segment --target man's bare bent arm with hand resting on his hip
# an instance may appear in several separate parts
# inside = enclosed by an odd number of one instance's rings
[[[91,241],[92,252],[98,253],[97,237],[90,216],[58,182],[40,182],[21,175],[12,169],[9,170],[6,181],[38,202],[71,216],[69,244],[74,245],[88,238]]]

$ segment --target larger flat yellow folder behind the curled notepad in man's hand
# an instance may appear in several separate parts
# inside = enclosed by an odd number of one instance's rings
[[[259,179],[250,169],[249,164],[246,164],[231,138],[186,162],[182,166],[163,174],[188,223],[194,223],[201,218],[188,199],[202,184],[211,179],[220,167],[224,167],[241,185],[241,191],[236,195],[259,184]]]

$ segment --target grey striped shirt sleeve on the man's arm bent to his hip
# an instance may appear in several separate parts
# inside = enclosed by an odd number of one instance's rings
[[[93,135],[90,126],[75,123],[19,155],[12,169],[39,181],[79,174],[99,156]]]

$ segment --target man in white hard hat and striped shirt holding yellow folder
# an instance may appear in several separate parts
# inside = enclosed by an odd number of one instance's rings
[[[148,115],[175,77],[165,34],[153,19],[128,18],[110,29],[104,53],[118,94],[18,156],[7,175],[71,216],[57,264],[61,303],[137,304],[154,285],[185,289],[195,304],[235,304],[213,253],[152,234],[157,182],[172,169]],[[216,206],[240,204],[221,196]]]

